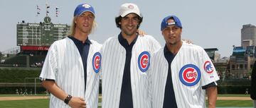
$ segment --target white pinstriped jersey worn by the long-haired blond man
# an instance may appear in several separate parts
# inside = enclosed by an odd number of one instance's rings
[[[55,41],[50,46],[40,78],[55,80],[61,90],[73,97],[84,98],[87,108],[97,108],[99,76],[92,68],[92,57],[99,52],[102,44],[90,41],[92,44],[90,44],[87,57],[86,91],[82,58],[75,43],[68,37]],[[55,107],[68,108],[69,106],[57,97],[50,95],[50,108]]]

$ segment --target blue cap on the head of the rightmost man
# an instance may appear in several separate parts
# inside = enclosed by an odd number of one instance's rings
[[[167,20],[170,18],[174,18],[174,23],[167,22]],[[161,22],[161,31],[164,30],[164,28],[166,28],[168,25],[175,25],[178,28],[182,28],[181,20],[179,20],[177,16],[166,16]]]

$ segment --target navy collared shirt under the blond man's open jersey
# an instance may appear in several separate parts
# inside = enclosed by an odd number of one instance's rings
[[[82,57],[82,65],[84,68],[84,73],[85,73],[85,90],[86,90],[86,76],[87,76],[87,57],[90,49],[90,40],[87,38],[85,40],[85,43],[82,43],[82,41],[75,39],[75,37],[68,36],[73,42],[75,43],[75,46],[78,48],[78,51],[80,53],[80,56]]]

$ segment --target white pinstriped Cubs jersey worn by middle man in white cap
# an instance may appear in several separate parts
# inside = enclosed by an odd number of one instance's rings
[[[150,107],[149,80],[147,76],[150,55],[160,44],[154,37],[144,35],[138,37],[132,47],[131,85],[134,108]],[[122,78],[126,50],[117,37],[110,37],[102,46],[102,108],[118,108],[122,88]],[[145,59],[146,58],[146,59]],[[146,60],[146,61],[144,61]],[[139,64],[138,64],[139,62]],[[147,65],[145,65],[147,64]],[[144,72],[143,72],[144,71]]]

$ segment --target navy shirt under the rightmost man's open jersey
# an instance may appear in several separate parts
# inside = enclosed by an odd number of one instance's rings
[[[164,106],[163,108],[176,108],[176,99],[175,99],[175,94],[174,94],[174,85],[171,80],[171,61],[174,60],[174,57],[176,56],[175,54],[172,54],[167,46],[165,45],[164,47],[164,56],[166,60],[168,61],[168,75],[167,75],[167,80],[166,80],[166,88],[164,91]]]

